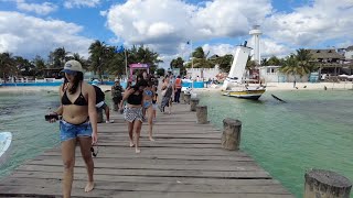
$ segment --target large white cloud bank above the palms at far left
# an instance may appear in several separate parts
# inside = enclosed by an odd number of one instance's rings
[[[83,26],[58,20],[43,20],[18,12],[0,11],[0,53],[10,52],[44,58],[57,47],[88,57],[93,40],[79,36]]]

